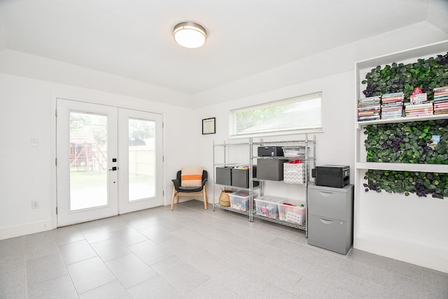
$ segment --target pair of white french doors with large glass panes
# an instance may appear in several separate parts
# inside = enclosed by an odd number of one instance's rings
[[[162,116],[57,99],[57,225],[162,205]]]

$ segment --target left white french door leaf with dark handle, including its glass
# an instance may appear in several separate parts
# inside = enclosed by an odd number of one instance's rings
[[[57,99],[57,225],[118,214],[118,109]]]

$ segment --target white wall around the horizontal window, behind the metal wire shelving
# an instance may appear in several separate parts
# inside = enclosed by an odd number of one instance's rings
[[[322,92],[322,115],[323,115],[323,133],[316,134],[316,165],[337,164],[350,165],[353,169],[354,136],[352,128],[355,125],[356,118],[353,117],[353,74],[346,72],[334,76],[320,78],[318,80],[308,81],[296,85],[290,85],[287,88],[280,88],[269,92],[262,92],[250,97],[242,97],[238,100],[207,106],[197,109],[198,118],[216,118],[216,134],[204,135],[198,142],[200,155],[205,161],[205,167],[210,169],[210,181],[213,177],[213,141],[222,144],[228,141],[229,137],[229,111],[245,106],[272,102],[279,99],[287,99],[297,95],[307,95],[314,92]],[[199,128],[198,128],[199,130]],[[309,134],[309,139],[314,134]],[[281,137],[263,137],[265,141],[276,140],[296,140],[304,139],[304,135],[284,135]],[[254,139],[258,141],[259,139]],[[244,142],[248,139],[236,139],[235,142]],[[216,151],[219,157],[217,162],[223,162],[222,151]],[[248,148],[243,151],[233,150],[232,156],[228,162],[242,163],[249,162]],[[353,183],[353,179],[351,179]],[[265,194],[281,196],[290,200],[304,201],[304,188],[300,186],[291,186],[283,183],[267,182]],[[215,190],[215,200],[218,200],[220,189]],[[209,188],[210,202],[213,199],[212,189]]]

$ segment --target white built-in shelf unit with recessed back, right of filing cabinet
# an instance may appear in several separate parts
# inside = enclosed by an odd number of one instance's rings
[[[392,53],[382,57],[356,62],[356,99],[353,99],[353,115],[357,116],[358,99],[364,97],[362,84],[365,74],[377,66],[414,63],[420,58],[444,55],[448,41]],[[355,121],[355,202],[353,247],[363,251],[388,256],[408,263],[446,272],[448,237],[448,199],[423,200],[425,197],[400,193],[365,192],[363,187],[367,169],[448,173],[448,165],[365,162],[365,129],[368,125],[409,123],[448,119],[448,114],[390,118],[386,120]],[[419,215],[416,217],[416,215]],[[433,245],[437,244],[437,245]],[[412,249],[412,250],[409,250]]]

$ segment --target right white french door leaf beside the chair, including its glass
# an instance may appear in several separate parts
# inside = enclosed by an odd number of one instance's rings
[[[162,115],[118,109],[118,213],[163,204]]]

